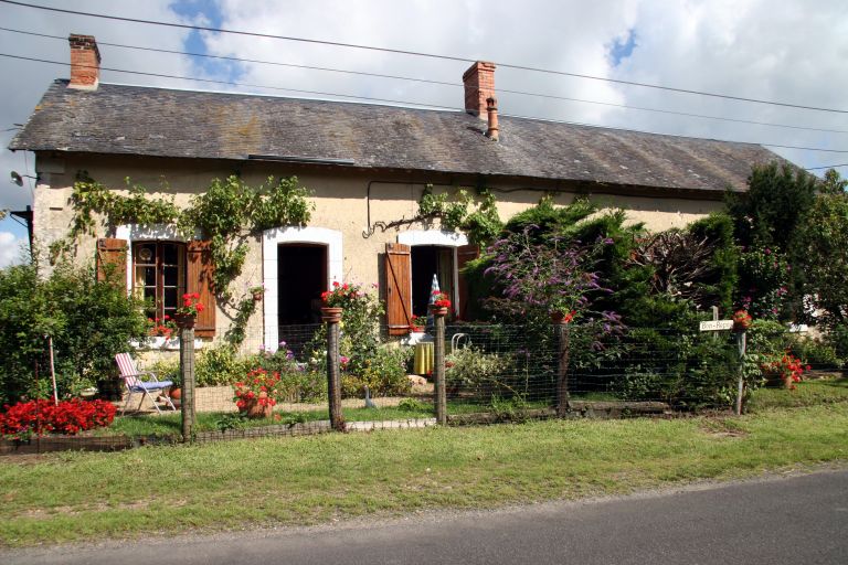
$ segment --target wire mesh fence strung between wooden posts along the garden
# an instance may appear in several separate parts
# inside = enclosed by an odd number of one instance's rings
[[[389,338],[381,328],[373,339],[363,341],[353,339],[342,323],[333,356],[327,354],[327,328],[282,326],[275,343],[255,333],[244,335],[236,350],[205,344],[197,351],[198,416],[189,439],[205,443],[329,431],[332,363],[339,370],[347,430],[434,425],[438,350],[444,354],[449,424],[728,409],[739,394],[740,376],[749,385],[770,377],[782,385],[802,363],[792,351],[802,351],[809,341],[786,331],[754,333],[742,358],[739,334],[697,328],[604,332],[569,324],[462,323],[447,324],[444,340],[437,343],[433,328],[401,338]],[[751,366],[755,370],[750,371]],[[804,370],[833,371],[838,365],[816,359]],[[266,413],[248,418],[240,411],[243,396],[239,392],[256,384],[252,380],[257,374],[275,376],[276,402]],[[254,392],[263,391],[254,387]],[[151,405],[131,401],[127,403],[125,393],[117,404],[128,407],[128,413],[109,428],[86,437],[6,440],[0,454],[118,450],[182,441],[180,412],[158,415]]]

